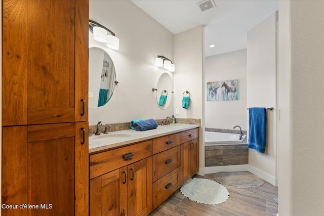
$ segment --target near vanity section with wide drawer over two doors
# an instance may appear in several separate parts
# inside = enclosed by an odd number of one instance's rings
[[[90,215],[152,210],[152,141],[90,155]]]

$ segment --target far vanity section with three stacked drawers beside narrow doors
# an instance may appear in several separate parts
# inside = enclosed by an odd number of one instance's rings
[[[195,128],[153,139],[153,209],[198,171],[198,137]]]

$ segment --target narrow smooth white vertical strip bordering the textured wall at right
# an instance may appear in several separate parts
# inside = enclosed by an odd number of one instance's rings
[[[278,15],[278,212],[292,215],[290,133],[290,3],[279,1]],[[280,115],[281,112],[281,115]]]

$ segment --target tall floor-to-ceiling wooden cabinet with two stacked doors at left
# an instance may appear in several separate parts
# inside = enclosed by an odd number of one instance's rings
[[[89,215],[89,0],[5,0],[3,215]]]

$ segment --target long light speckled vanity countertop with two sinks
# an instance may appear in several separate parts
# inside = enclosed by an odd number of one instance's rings
[[[151,129],[148,131],[135,131],[133,129],[128,129],[125,131],[109,132],[108,134],[101,134],[97,136],[92,135],[89,137],[89,154],[187,131],[188,129],[193,129],[199,126],[199,124],[176,123],[169,125],[158,125],[156,129]]]

